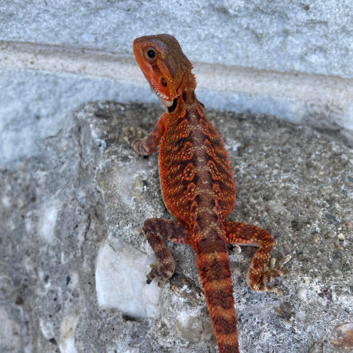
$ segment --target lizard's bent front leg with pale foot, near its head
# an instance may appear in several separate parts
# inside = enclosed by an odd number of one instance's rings
[[[165,124],[168,118],[168,114],[164,112],[158,119],[157,124],[152,129],[151,133],[141,138],[143,130],[136,127],[124,127],[122,129],[124,133],[124,140],[130,144],[130,146],[140,155],[149,156],[152,154],[161,139],[165,130]]]

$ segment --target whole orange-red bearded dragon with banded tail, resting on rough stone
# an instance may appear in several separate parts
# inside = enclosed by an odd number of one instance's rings
[[[149,136],[141,138],[137,128],[128,127],[124,128],[124,139],[147,156],[163,136],[159,150],[161,189],[168,211],[177,219],[151,218],[144,223],[147,240],[159,259],[147,283],[161,277],[161,287],[175,270],[174,258],[160,236],[191,245],[219,352],[239,352],[227,243],[258,247],[247,276],[254,291],[279,294],[269,282],[288,273],[282,266],[291,257],[282,258],[275,267],[275,259],[270,261],[275,241],[268,231],[226,221],[235,204],[233,174],[220,135],[196,98],[193,67],[178,41],[168,34],[144,36],[134,40],[133,52],[166,111]]]

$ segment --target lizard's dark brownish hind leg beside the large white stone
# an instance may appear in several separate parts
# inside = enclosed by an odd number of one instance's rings
[[[153,265],[146,282],[150,284],[155,277],[161,276],[158,287],[163,287],[164,283],[172,277],[174,273],[175,260],[160,235],[168,240],[184,244],[189,244],[190,235],[181,223],[162,218],[150,218],[146,220],[143,225],[143,230],[148,243],[159,259]]]

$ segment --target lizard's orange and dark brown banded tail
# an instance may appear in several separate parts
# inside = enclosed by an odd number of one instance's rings
[[[205,235],[195,235],[195,240],[202,239],[195,245],[197,267],[219,352],[239,353],[228,250],[225,237],[216,234],[215,228],[209,229],[206,238]],[[219,229],[219,233],[224,233],[224,230]]]

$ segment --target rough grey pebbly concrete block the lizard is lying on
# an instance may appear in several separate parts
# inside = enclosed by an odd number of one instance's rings
[[[161,113],[155,105],[83,104],[57,134],[36,141],[34,156],[2,167],[1,352],[216,352],[188,246],[169,244],[177,269],[160,293],[147,295],[157,298],[153,310],[121,313],[114,300],[97,298],[97,291],[120,298],[128,281],[137,283],[128,272],[116,293],[104,287],[119,268],[144,271],[140,260],[145,266],[152,254],[140,227],[170,217],[157,154],[138,156],[121,135],[124,126],[150,131]],[[230,249],[241,352],[341,352],[329,337],[353,316],[352,146],[339,133],[274,116],[208,116],[236,179],[229,220],[268,229],[273,256],[293,257],[276,298],[246,285],[255,249]],[[141,255],[130,261],[121,244]],[[110,268],[101,261],[109,247],[121,262]]]

